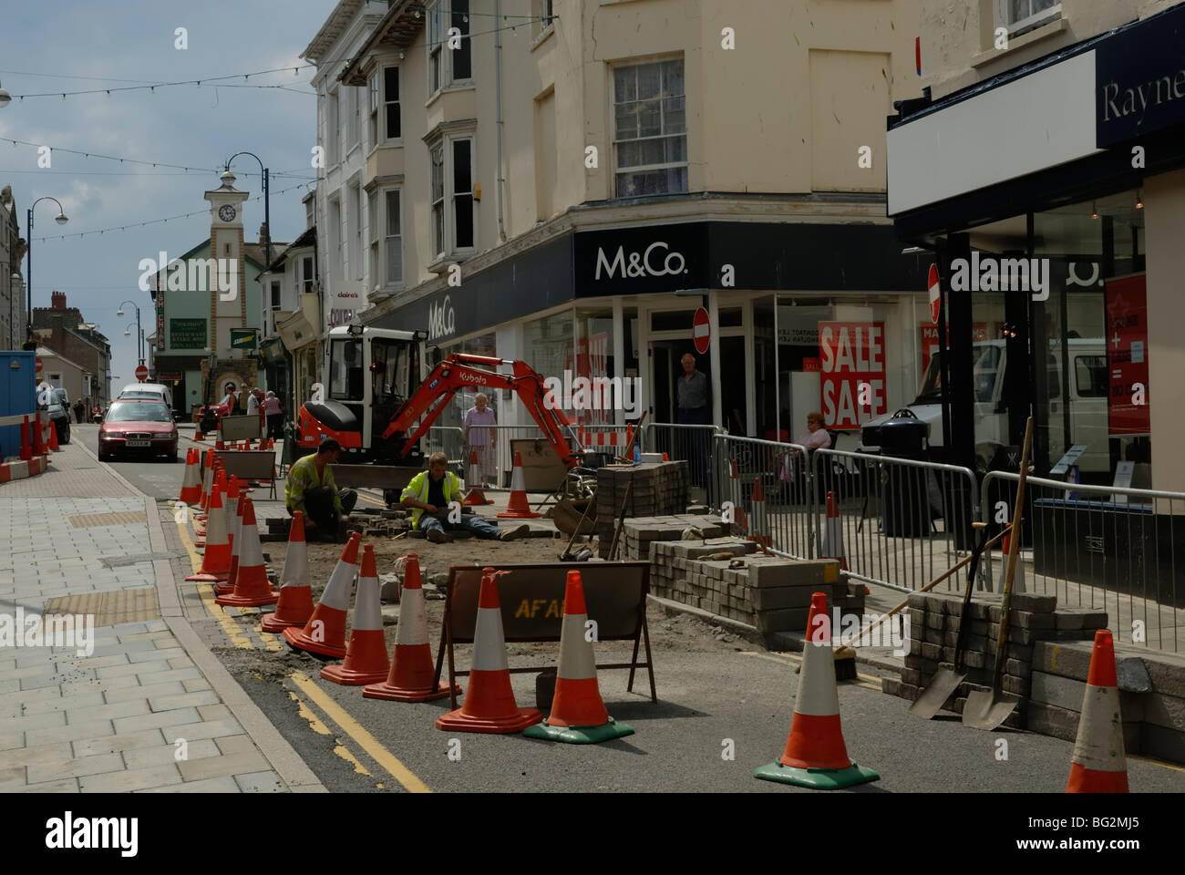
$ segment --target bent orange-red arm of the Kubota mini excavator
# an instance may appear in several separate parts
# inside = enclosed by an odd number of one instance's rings
[[[498,373],[499,365],[508,364],[512,376]],[[510,389],[519,398],[534,421],[539,423],[544,435],[556,451],[565,467],[575,468],[583,462],[584,449],[578,443],[574,449],[564,434],[564,427],[570,426],[568,417],[558,405],[549,403],[549,390],[543,377],[526,362],[493,358],[489,356],[470,356],[457,352],[433,369],[428,378],[419,384],[415,394],[395,411],[391,422],[383,432],[383,440],[403,438],[401,456],[405,456],[417,445],[419,439],[444,410],[449,400],[460,389]],[[418,426],[416,422],[418,421]],[[409,434],[409,429],[415,428]]]

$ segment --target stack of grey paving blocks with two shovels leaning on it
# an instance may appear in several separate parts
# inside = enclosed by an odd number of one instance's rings
[[[995,643],[1003,613],[999,594],[975,594],[971,605],[971,630],[963,641],[967,679],[943,703],[946,710],[962,714],[967,694],[991,691],[995,670]],[[909,596],[909,652],[901,683],[888,692],[914,701],[924,690],[939,668],[953,669],[955,645],[962,617],[962,595],[953,593],[914,593]],[[1095,632],[1107,626],[1107,614],[1082,608],[1058,608],[1057,596],[1037,593],[1013,593],[1008,640],[1005,644],[1004,698],[1017,708],[1004,726],[1026,728],[1030,695],[1033,685],[1033,653],[1043,641],[1090,641]],[[1083,675],[1084,677],[1084,675]],[[1081,708],[1081,697],[1078,700]]]

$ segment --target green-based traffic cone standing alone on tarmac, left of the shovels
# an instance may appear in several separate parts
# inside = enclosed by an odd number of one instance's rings
[[[809,640],[802,652],[794,718],[786,753],[768,766],[754,769],[754,778],[794,784],[815,790],[838,790],[880,778],[871,768],[847,759],[839,727],[839,691],[835,688],[835,653],[831,646],[827,596],[811,596]]]

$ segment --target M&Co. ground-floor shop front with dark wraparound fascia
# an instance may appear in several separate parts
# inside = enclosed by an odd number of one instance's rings
[[[870,222],[575,231],[372,324],[427,327],[437,356],[524,359],[556,381],[568,415],[588,426],[624,426],[642,411],[678,422],[675,387],[690,352],[710,379],[709,421],[734,434],[793,438],[807,413],[826,405],[821,363],[838,364],[852,369],[857,391],[843,409],[833,400],[831,422],[848,426],[854,445],[860,423],[911,401],[920,385],[917,331],[907,328],[925,306],[925,267],[902,254],[889,225]],[[700,308],[704,353],[694,347]],[[832,328],[837,343],[844,338],[838,356],[821,346]],[[582,378],[604,391],[582,395]],[[492,403],[499,422],[529,422],[507,397]],[[454,400],[440,422],[459,423],[468,405],[472,396]]]

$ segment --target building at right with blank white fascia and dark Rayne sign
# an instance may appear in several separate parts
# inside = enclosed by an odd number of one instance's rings
[[[1083,479],[1185,490],[1185,5],[921,6],[889,212],[942,274],[956,460],[1018,446],[1031,411],[1038,472],[1070,454]]]

